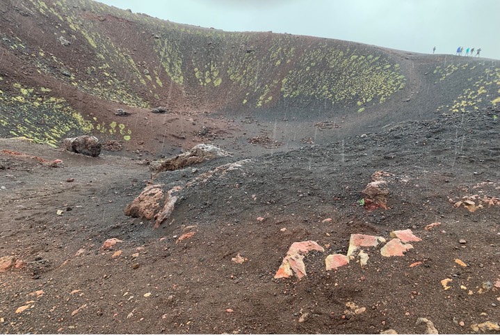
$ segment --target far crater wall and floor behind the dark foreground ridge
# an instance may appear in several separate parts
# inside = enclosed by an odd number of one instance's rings
[[[252,138],[274,152],[499,102],[498,61],[484,58],[228,33],[87,0],[0,10],[0,134],[54,146],[92,133],[147,156],[202,141],[254,154]]]

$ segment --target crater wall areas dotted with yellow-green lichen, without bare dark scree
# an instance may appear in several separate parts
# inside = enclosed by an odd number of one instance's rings
[[[399,90],[419,89],[408,88],[421,74],[412,74],[401,54],[353,42],[228,33],[90,0],[11,1],[0,10],[0,51],[9,60],[0,61],[1,134],[51,144],[68,131],[134,136],[130,125],[81,111],[75,99],[82,95],[174,113],[315,106],[364,112]],[[436,68],[444,77],[450,71]],[[456,90],[463,93],[452,111],[473,95],[466,86]]]

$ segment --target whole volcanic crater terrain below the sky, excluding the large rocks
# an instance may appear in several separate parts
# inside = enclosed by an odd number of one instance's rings
[[[499,328],[498,61],[83,0],[0,11],[1,333]],[[124,150],[58,147],[80,134]],[[198,143],[232,157],[152,174]],[[124,209],[156,184],[177,202],[154,229]],[[380,243],[327,270],[352,234]],[[287,253],[302,278],[275,278]]]

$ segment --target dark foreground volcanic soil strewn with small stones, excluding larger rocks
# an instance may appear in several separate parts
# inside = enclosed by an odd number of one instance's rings
[[[500,197],[499,112],[394,123],[328,144],[235,152],[160,173],[152,182],[186,186],[250,159],[182,189],[156,230],[123,213],[150,182],[144,157],[83,157],[1,139],[2,149],[26,155],[0,152],[0,257],[26,265],[0,273],[0,331],[424,333],[415,323],[425,317],[439,333],[473,333],[472,323],[499,321],[500,207],[470,212],[453,203]],[[265,121],[248,125],[258,122]],[[33,156],[61,159],[63,167]],[[390,174],[388,209],[369,211],[358,201],[377,171]],[[422,241],[404,257],[371,249],[364,269],[351,262],[325,271],[325,256],[345,254],[350,234],[388,239],[408,228]],[[179,241],[186,232],[195,234]],[[111,238],[122,242],[102,250]],[[307,275],[273,279],[291,243],[306,240],[325,248],[305,258]],[[232,262],[238,254],[242,264]],[[453,281],[444,290],[446,278]],[[366,310],[354,314],[347,303]]]

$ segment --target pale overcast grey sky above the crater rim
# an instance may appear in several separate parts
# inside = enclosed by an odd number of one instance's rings
[[[134,13],[224,31],[273,31],[500,59],[500,0],[99,0]],[[474,54],[476,54],[474,52]]]

